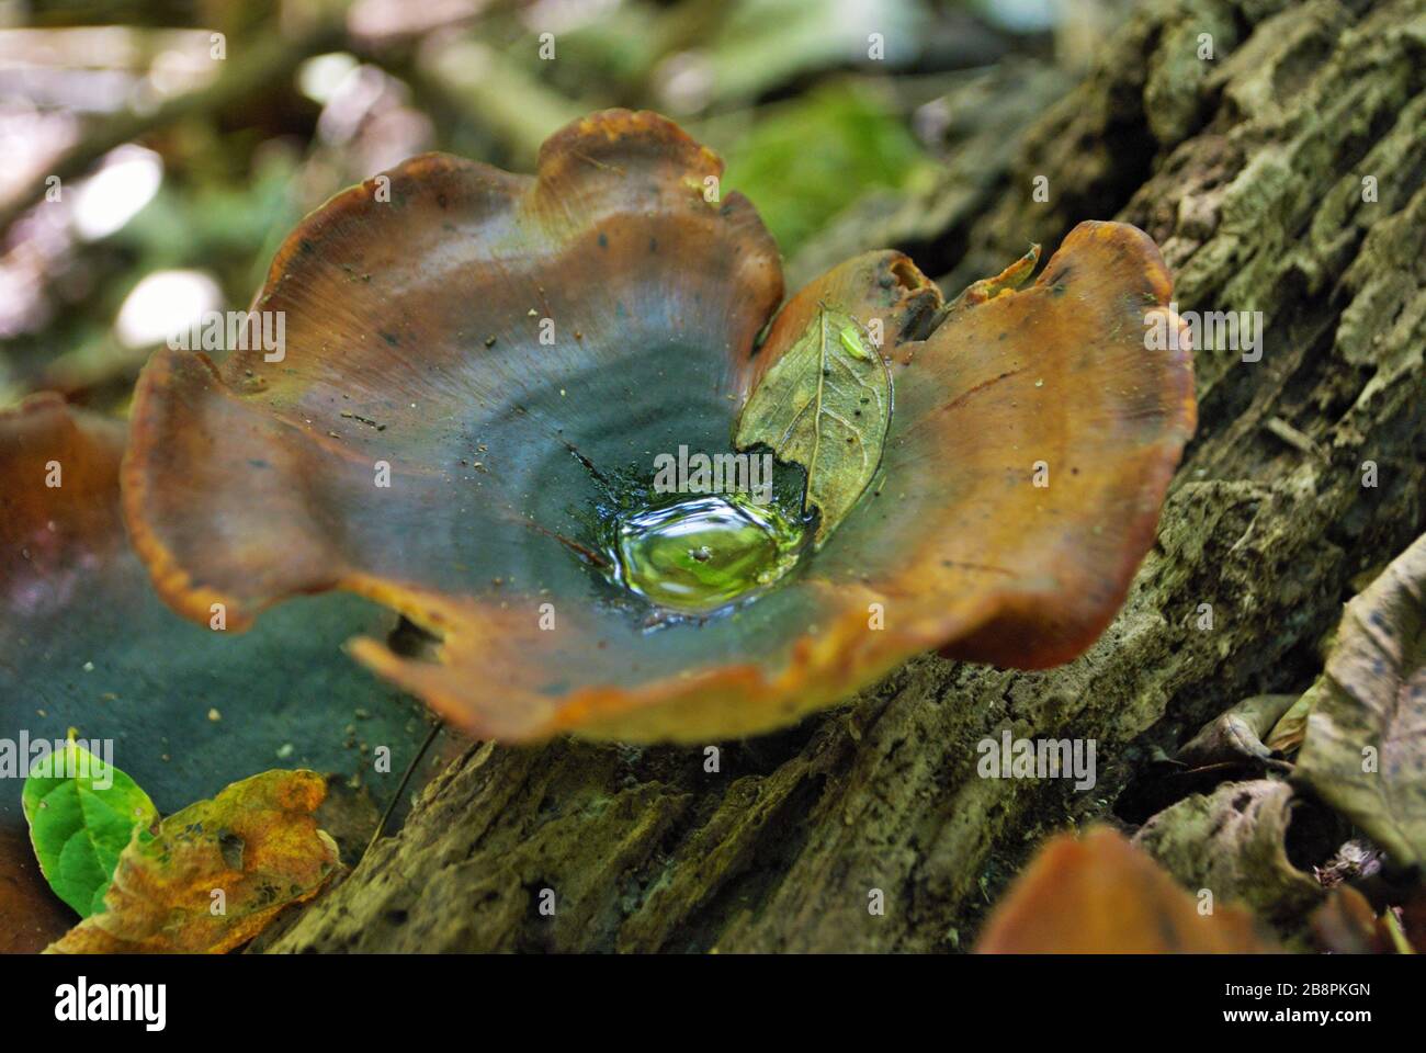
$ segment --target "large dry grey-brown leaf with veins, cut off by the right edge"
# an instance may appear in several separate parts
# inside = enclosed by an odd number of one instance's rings
[[[1296,776],[1395,865],[1426,865],[1426,535],[1346,605],[1313,691]]]

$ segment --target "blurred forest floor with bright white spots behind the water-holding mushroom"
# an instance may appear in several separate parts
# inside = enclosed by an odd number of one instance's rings
[[[552,131],[609,106],[723,153],[797,280],[925,247],[1082,74],[1065,26],[1122,6],[0,3],[0,404],[58,390],[123,412],[153,347],[245,305],[331,194],[422,150],[529,171]]]

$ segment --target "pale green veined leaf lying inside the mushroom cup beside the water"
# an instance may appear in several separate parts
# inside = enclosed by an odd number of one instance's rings
[[[807,469],[804,508],[821,511],[821,546],[871,482],[890,422],[886,362],[856,318],[823,304],[749,397],[736,442]]]

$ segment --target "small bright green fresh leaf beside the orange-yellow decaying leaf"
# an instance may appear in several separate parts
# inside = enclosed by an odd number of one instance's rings
[[[134,828],[158,810],[138,785],[73,739],[37,758],[21,795],[40,872],[81,917],[104,910],[104,893]]]

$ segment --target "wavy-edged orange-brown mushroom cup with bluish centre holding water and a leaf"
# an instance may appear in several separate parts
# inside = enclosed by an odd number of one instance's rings
[[[928,649],[1085,649],[1194,427],[1186,344],[1145,341],[1179,335],[1149,238],[1084,224],[951,305],[871,253],[767,327],[777,250],[720,173],[607,111],[533,177],[424,156],[314,213],[250,320],[285,345],[140,381],[158,591],[234,628],[376,599],[436,641],[352,653],[505,739],[744,735]]]

